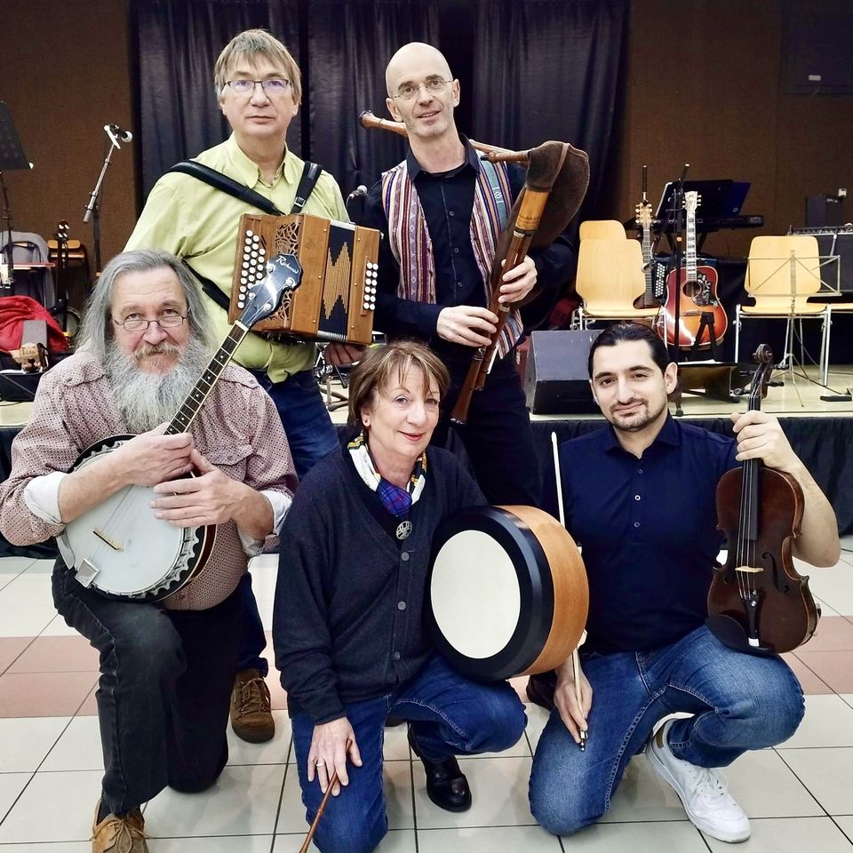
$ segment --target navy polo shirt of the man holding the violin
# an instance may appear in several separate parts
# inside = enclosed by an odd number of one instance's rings
[[[739,465],[736,448],[672,417],[639,459],[610,425],[560,446],[566,527],[589,578],[585,650],[656,649],[705,621],[717,483]],[[545,494],[556,516],[553,471]]]

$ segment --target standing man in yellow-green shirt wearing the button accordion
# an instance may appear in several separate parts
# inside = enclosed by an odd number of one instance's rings
[[[219,108],[231,125],[228,140],[195,157],[265,196],[281,211],[291,211],[305,163],[287,147],[287,129],[299,111],[302,86],[299,68],[284,45],[260,29],[235,36],[219,54],[213,69]],[[302,210],[315,216],[348,221],[340,189],[323,171]],[[238,223],[243,213],[258,212],[190,175],[169,172],[148,195],[127,249],[156,247],[183,259],[202,280],[226,296],[231,290]],[[209,285],[210,286],[210,285]],[[227,330],[227,312],[207,300],[217,334]],[[331,345],[332,357],[335,345]],[[255,372],[275,401],[291,442],[299,477],[338,447],[337,434],[323,405],[313,368],[311,343],[283,344],[250,334],[235,356]],[[231,724],[243,740],[273,737],[269,692],[264,682],[267,643],[251,576],[243,578],[244,628],[240,667],[235,680]]]

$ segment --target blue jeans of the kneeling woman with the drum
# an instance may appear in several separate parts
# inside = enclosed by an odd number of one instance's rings
[[[524,706],[506,682],[470,682],[442,658],[433,658],[393,693],[347,706],[363,764],[348,765],[349,785],[329,798],[314,839],[323,853],[369,853],[387,833],[382,745],[389,713],[411,721],[420,752],[434,761],[508,749],[522,737],[527,721]],[[310,823],[323,799],[316,779],[307,780],[314,723],[305,713],[292,722],[302,802]]]

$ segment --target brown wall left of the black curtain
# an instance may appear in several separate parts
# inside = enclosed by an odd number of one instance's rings
[[[103,126],[133,126],[127,15],[125,0],[3,0],[0,100],[34,164],[4,172],[14,227],[49,236],[68,219],[90,261],[92,223],[83,215],[107,154]],[[104,182],[103,263],[124,248],[136,220],[134,146],[114,153]]]

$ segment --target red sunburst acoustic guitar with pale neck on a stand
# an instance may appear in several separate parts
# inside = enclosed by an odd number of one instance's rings
[[[729,318],[717,298],[717,271],[709,265],[697,266],[696,210],[699,194],[684,194],[687,211],[685,265],[672,269],[666,276],[666,304],[658,319],[658,335],[668,346],[678,343],[684,349],[719,344],[729,326]],[[681,279],[681,287],[677,282]],[[678,330],[675,329],[675,306],[679,306]],[[713,325],[712,325],[713,324]],[[666,332],[665,332],[666,329]]]

